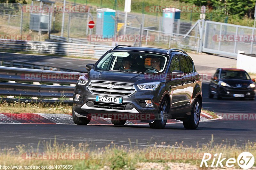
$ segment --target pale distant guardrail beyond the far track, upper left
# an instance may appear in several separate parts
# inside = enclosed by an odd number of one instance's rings
[[[39,53],[100,58],[112,46],[48,41],[5,41],[0,39],[0,50],[32,51]]]

